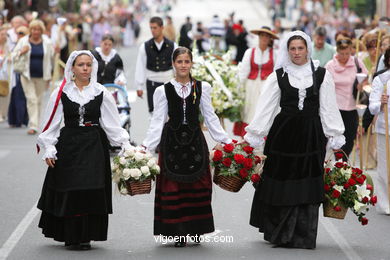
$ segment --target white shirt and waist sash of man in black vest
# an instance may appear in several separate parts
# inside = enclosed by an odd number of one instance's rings
[[[164,41],[160,43],[154,41],[158,50],[161,50]],[[174,43],[173,49],[177,48],[177,44]],[[146,50],[145,43],[142,43],[138,49],[137,64],[135,66],[135,87],[137,90],[143,90],[145,88],[146,80],[154,82],[168,82],[173,77],[173,70],[167,71],[151,71],[146,68]]]

